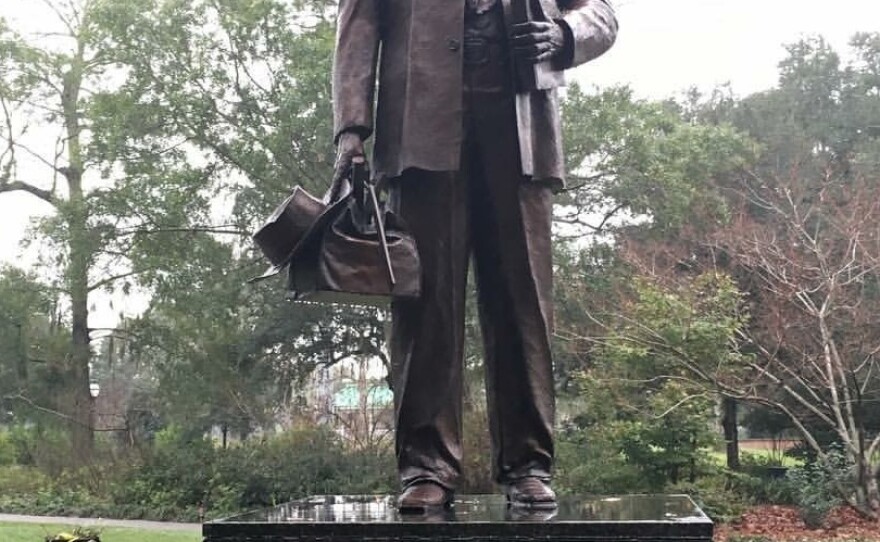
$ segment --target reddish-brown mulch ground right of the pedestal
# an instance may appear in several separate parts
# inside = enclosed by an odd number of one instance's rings
[[[791,506],[757,506],[736,521],[717,525],[715,541],[749,538],[785,542],[859,541],[880,542],[880,522],[865,519],[851,508],[832,511],[821,529],[809,529]]]

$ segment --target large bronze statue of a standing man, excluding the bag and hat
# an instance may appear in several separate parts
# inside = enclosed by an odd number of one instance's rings
[[[418,244],[422,295],[392,308],[402,510],[449,505],[461,473],[473,254],[493,474],[552,508],[550,224],[563,183],[555,86],[615,40],[606,0],[340,0],[335,183],[374,132],[373,171]],[[374,93],[378,73],[378,99]]]

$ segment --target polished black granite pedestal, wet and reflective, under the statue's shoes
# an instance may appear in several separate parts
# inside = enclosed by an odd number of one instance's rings
[[[447,510],[401,514],[387,496],[303,499],[206,523],[205,542],[635,542],[712,540],[685,495],[562,497],[554,511],[509,508],[500,495],[461,495]]]

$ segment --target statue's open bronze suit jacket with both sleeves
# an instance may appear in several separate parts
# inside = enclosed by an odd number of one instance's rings
[[[508,32],[511,2],[502,2]],[[528,0],[526,0],[528,1]],[[548,69],[582,64],[608,50],[617,20],[607,0],[539,0],[573,42]],[[340,0],[333,68],[336,137],[374,130],[373,168],[398,176],[416,167],[454,171],[462,140],[462,36],[465,0]],[[511,79],[513,77],[511,76]],[[513,81],[511,81],[513,84]],[[522,171],[561,185],[562,137],[555,89],[516,96]]]

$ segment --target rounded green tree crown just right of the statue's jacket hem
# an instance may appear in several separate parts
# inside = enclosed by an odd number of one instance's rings
[[[749,163],[753,142],[729,123],[689,122],[676,108],[637,100],[627,88],[595,95],[572,86],[563,103],[569,190],[557,223],[576,235],[633,220],[674,235],[725,216],[710,181]],[[564,236],[571,228],[560,228]]]

